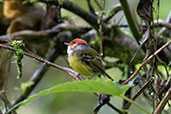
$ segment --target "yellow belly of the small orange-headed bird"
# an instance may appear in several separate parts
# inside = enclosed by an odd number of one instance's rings
[[[83,63],[76,55],[68,58],[70,66],[79,74],[83,76],[96,76],[98,73],[95,73],[91,70],[91,68]]]

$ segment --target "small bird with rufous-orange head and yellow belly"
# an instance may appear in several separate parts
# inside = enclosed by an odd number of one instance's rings
[[[70,66],[83,76],[104,75],[113,80],[106,72],[101,57],[85,40],[76,38],[68,46],[68,61]]]

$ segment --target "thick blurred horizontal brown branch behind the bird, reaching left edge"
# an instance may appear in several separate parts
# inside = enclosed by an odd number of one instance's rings
[[[59,24],[52,29],[48,30],[41,30],[41,31],[33,31],[33,30],[23,30],[7,35],[2,35],[0,36],[0,39],[2,38],[7,38],[7,39],[14,39],[15,37],[22,37],[22,38],[27,38],[29,39],[42,39],[42,38],[53,38],[53,36],[56,36],[59,32],[61,31],[71,31],[73,34],[83,34],[86,33],[90,30],[88,27],[69,27],[66,24]]]

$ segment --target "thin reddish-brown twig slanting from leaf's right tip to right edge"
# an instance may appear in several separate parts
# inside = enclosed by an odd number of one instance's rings
[[[154,52],[154,54],[152,54],[151,56],[149,56],[145,61],[143,61],[143,63],[141,64],[141,66],[130,76],[130,78],[128,78],[126,81],[124,81],[122,84],[127,84],[129,81],[131,81],[135,75],[141,70],[141,68],[149,61],[151,60],[153,57],[155,57],[160,51],[162,51],[164,48],[166,48],[169,44],[171,43],[171,40],[168,41],[167,43],[165,43],[161,48],[159,48],[157,51]]]

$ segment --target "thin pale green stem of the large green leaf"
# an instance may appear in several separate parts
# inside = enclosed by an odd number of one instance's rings
[[[121,98],[127,100],[128,102],[134,104],[137,108],[141,109],[142,111],[144,111],[147,114],[151,114],[150,112],[148,112],[144,107],[142,107],[141,105],[137,104],[136,102],[134,102],[133,100],[125,97],[124,95],[120,95]]]

